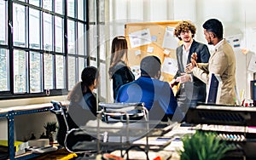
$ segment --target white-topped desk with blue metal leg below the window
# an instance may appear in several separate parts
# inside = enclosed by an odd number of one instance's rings
[[[28,159],[38,157],[38,154],[24,154],[15,157],[15,116],[49,111],[51,103],[31,106],[16,106],[0,109],[0,117],[6,117],[8,121],[8,147],[9,159]]]

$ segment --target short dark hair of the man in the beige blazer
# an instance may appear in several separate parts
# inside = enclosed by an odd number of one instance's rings
[[[207,31],[211,31],[218,38],[223,37],[223,26],[222,26],[222,23],[217,19],[207,20],[203,24],[203,28],[206,29]]]

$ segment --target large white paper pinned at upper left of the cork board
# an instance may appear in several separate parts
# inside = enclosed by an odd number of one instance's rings
[[[131,48],[140,47],[152,43],[149,29],[135,31],[129,34]]]

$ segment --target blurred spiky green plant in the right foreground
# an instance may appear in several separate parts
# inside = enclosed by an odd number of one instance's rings
[[[234,150],[234,144],[221,140],[215,132],[196,131],[182,139],[183,150],[179,151],[181,160],[220,160],[227,152]]]

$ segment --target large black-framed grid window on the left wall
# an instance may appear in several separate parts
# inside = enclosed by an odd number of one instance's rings
[[[0,0],[0,100],[67,94],[88,65],[87,1]],[[88,19],[87,19],[88,20]]]

